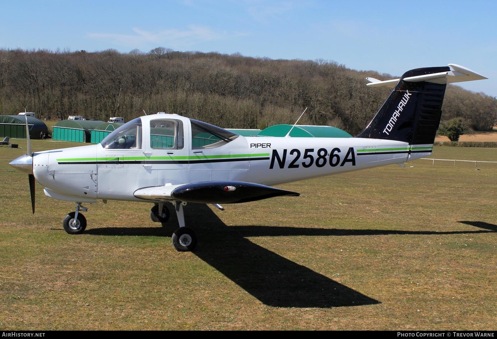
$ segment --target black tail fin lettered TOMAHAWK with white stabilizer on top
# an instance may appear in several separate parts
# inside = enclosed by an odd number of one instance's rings
[[[487,78],[471,69],[449,64],[448,67],[411,69],[400,79],[366,79],[370,81],[368,86],[387,86],[393,90],[357,137],[404,141],[414,150],[433,146],[447,83]]]

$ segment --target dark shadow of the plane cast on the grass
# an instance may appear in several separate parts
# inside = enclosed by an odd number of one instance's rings
[[[226,275],[263,304],[274,307],[360,306],[379,304],[358,291],[329,277],[296,264],[254,244],[246,237],[257,236],[349,236],[389,234],[464,234],[497,232],[497,225],[479,221],[460,221],[483,230],[476,231],[404,231],[353,230],[273,226],[228,227],[204,204],[189,203],[186,225],[197,231],[200,244],[193,253]],[[172,208],[170,208],[172,210]],[[87,229],[92,235],[164,236],[176,228],[175,213],[165,227],[107,227]],[[201,222],[199,222],[201,220]]]

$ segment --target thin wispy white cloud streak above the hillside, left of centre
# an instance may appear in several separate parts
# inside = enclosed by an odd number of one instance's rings
[[[133,32],[135,34],[88,33],[87,36],[132,48],[164,45],[176,50],[187,49],[200,42],[229,37],[226,32],[216,32],[209,27],[197,25],[189,25],[185,30],[171,28],[160,32],[149,32],[135,27]]]

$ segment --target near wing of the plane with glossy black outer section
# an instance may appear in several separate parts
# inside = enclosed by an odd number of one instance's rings
[[[188,203],[248,203],[257,200],[299,196],[300,193],[280,190],[243,181],[206,181],[200,183],[145,187],[134,196],[152,201],[177,200]]]

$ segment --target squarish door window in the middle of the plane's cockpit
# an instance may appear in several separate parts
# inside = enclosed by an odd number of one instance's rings
[[[150,122],[150,147],[154,149],[182,149],[183,123],[174,119]]]

